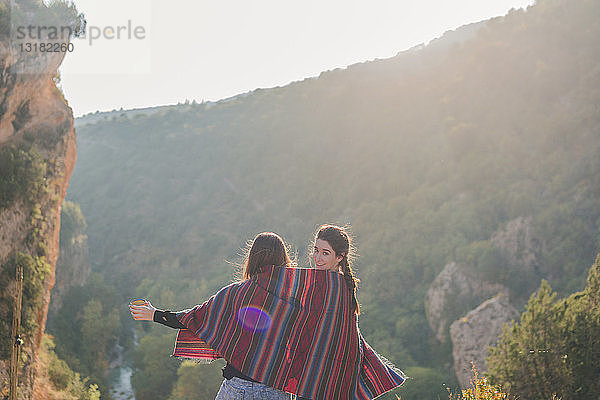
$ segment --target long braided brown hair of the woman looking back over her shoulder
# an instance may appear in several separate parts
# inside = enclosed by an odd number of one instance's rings
[[[329,243],[335,256],[342,256],[341,261],[338,263],[340,269],[344,273],[344,279],[348,285],[348,289],[352,291],[352,305],[354,312],[360,314],[360,307],[356,300],[356,287],[359,280],[354,276],[352,271],[351,261],[356,257],[356,250],[352,246],[352,236],[348,233],[348,228],[337,225],[321,225],[317,229],[315,239],[313,242],[313,248],[317,239],[321,239]]]

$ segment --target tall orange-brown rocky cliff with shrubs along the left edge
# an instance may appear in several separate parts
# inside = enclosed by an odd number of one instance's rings
[[[5,12],[6,3],[0,5]],[[0,35],[0,384],[8,386],[15,266],[21,264],[19,398],[24,399],[33,397],[59,254],[61,204],[76,159],[72,110],[54,82],[63,57],[15,51]]]

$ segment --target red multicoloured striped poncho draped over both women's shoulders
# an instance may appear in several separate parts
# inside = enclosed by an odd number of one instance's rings
[[[268,267],[177,313],[173,356],[225,358],[242,373],[301,397],[373,399],[404,382],[363,339],[352,292],[337,272]]]

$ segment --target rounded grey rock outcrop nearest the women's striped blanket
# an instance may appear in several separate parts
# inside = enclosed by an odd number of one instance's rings
[[[436,338],[445,343],[448,327],[454,320],[499,293],[508,296],[508,289],[478,279],[455,262],[447,264],[425,297],[427,320]]]

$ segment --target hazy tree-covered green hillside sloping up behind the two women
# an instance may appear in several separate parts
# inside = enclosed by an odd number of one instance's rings
[[[597,1],[538,1],[391,59],[79,125],[68,199],[94,270],[123,304],[183,308],[233,279],[227,261],[256,233],[281,234],[304,264],[318,224],[350,223],[363,334],[409,373],[453,383],[424,311],[447,262],[523,305],[542,278],[580,290],[600,249],[598,15]],[[486,250],[520,216],[543,249],[529,273]],[[140,351],[169,347],[165,329],[140,331]],[[150,376],[140,362],[134,385]]]

